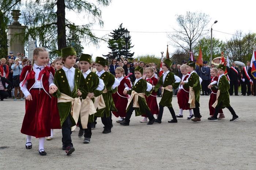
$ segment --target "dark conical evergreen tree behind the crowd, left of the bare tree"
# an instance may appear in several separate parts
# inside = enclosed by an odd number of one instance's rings
[[[109,35],[111,38],[108,41],[108,48],[111,50],[112,56],[110,56],[110,59],[120,59],[120,57],[123,55],[125,58],[132,59],[132,56],[134,55],[134,52],[131,53],[132,43],[131,43],[131,36],[129,36],[127,39],[124,37],[124,31],[125,28],[122,27],[123,23],[119,25],[118,29],[113,30],[113,32],[110,32],[111,35]],[[126,46],[127,41],[127,46]]]

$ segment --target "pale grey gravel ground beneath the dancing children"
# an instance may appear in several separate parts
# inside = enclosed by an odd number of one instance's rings
[[[78,130],[72,134],[75,152],[66,156],[61,150],[61,130],[54,130],[52,141],[45,141],[46,156],[38,154],[38,139],[26,150],[26,135],[20,133],[25,101],[5,99],[0,102],[0,169],[256,169],[255,96],[230,96],[240,119],[226,118],[208,122],[209,96],[200,96],[201,122],[186,120],[168,123],[170,113],[164,109],[161,124],[140,123],[132,115],[130,126],[120,126],[113,117],[110,134],[102,134],[98,120],[90,144],[83,144]],[[158,102],[160,98],[158,98]],[[48,106],[46,106],[48,107]],[[173,107],[178,114],[177,98]]]

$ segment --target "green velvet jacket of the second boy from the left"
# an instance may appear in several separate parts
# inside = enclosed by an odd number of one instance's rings
[[[85,82],[86,82],[85,85],[87,86],[89,93],[94,93],[95,97],[98,97],[102,94],[104,89],[102,91],[96,90],[96,88],[99,86],[99,77],[97,76],[97,74],[95,74],[94,72],[90,72],[89,75],[87,75]],[[93,100],[94,102],[94,98],[91,100]],[[89,123],[94,122],[94,114],[89,115],[88,122]]]

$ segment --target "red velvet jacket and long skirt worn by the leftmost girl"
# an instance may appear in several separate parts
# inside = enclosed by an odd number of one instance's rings
[[[36,138],[50,136],[50,112],[51,96],[49,92],[49,76],[54,76],[52,67],[45,67],[40,73],[43,88],[33,89],[35,84],[35,72],[31,66],[25,66],[20,74],[20,81],[25,84],[33,100],[26,100],[26,112],[22,123],[21,133]]]

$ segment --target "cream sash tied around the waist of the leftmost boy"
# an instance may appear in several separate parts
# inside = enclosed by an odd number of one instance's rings
[[[71,115],[75,122],[78,122],[80,109],[81,109],[81,100],[79,98],[72,98],[64,93],[60,94],[60,98],[58,98],[58,103],[67,103],[71,102]],[[76,125],[71,128],[71,131],[76,129]]]

